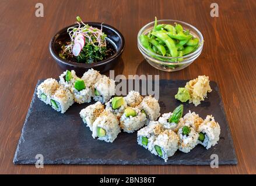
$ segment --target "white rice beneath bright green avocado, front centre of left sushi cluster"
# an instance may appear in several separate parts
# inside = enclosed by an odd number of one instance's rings
[[[71,88],[71,92],[73,93],[74,99],[76,103],[89,103],[92,98],[92,89],[85,88],[81,91],[76,90],[75,87]]]

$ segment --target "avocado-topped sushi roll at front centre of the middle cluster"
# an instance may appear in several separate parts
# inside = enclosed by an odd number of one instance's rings
[[[146,115],[138,108],[126,108],[120,119],[120,126],[124,132],[134,133],[135,130],[145,126]]]

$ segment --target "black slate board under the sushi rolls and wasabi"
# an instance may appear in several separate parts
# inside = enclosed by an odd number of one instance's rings
[[[37,85],[41,82],[38,81]],[[180,104],[174,95],[177,88],[184,87],[186,82],[160,80],[161,113],[172,112]],[[211,88],[213,91],[199,106],[185,103],[184,113],[191,110],[203,118],[207,114],[215,116],[221,128],[218,144],[208,150],[197,145],[190,153],[177,151],[166,163],[139,146],[136,133],[120,133],[113,143],[94,140],[79,116],[80,110],[89,104],[75,103],[65,114],[61,114],[41,102],[35,91],[13,163],[34,164],[36,155],[41,154],[44,164],[210,164],[211,155],[216,154],[219,164],[237,164],[218,85],[211,81]]]

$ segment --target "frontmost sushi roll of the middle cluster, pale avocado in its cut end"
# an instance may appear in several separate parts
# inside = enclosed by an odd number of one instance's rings
[[[93,122],[93,138],[113,142],[121,132],[117,116],[109,110],[104,110]]]

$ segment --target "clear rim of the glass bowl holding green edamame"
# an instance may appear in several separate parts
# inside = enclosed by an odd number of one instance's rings
[[[185,23],[185,22],[182,22],[182,21],[179,21],[179,20],[173,20],[173,19],[161,19],[161,20],[157,20],[157,23],[159,23],[159,22],[181,23],[181,24],[185,24],[185,25],[188,26],[188,27],[193,28],[193,29],[197,32],[197,34],[199,35],[199,40],[200,40],[199,45],[200,45],[200,46],[198,47],[198,49],[197,49],[196,51],[190,53],[189,55],[185,55],[185,56],[182,56],[182,57],[168,57],[168,56],[162,56],[162,55],[158,55],[158,54],[156,54],[156,53],[153,53],[153,52],[149,51],[148,49],[146,49],[145,47],[143,47],[143,45],[141,44],[141,41],[139,40],[139,36],[142,34],[142,31],[145,30],[146,27],[150,26],[150,24],[154,24],[154,23],[155,23],[155,22],[150,22],[150,23],[146,24],[145,26],[143,26],[143,27],[141,28],[141,30],[139,30],[139,33],[138,33],[138,36],[137,36],[138,45],[139,45],[139,47],[141,47],[144,51],[148,52],[149,54],[155,55],[155,56],[157,56],[157,57],[159,57],[159,58],[162,58],[162,59],[163,59],[162,62],[164,62],[164,63],[182,65],[182,64],[185,64],[185,63],[187,63],[187,62],[186,62],[186,61],[183,61],[183,62],[167,62],[167,61],[164,61],[164,59],[185,59],[185,60],[186,60],[186,58],[189,58],[189,57],[191,57],[191,56],[194,56],[194,55],[196,55],[199,51],[202,50],[202,48],[203,48],[203,46],[204,46],[204,37],[203,37],[203,35],[201,34],[201,32],[200,32],[196,27],[192,26],[191,24],[188,24],[188,23]],[[148,53],[145,53],[145,55],[148,56]],[[150,58],[153,58],[153,57],[150,56]],[[153,58],[153,59],[155,59],[155,58]],[[159,60],[159,59],[155,59],[155,60]]]

